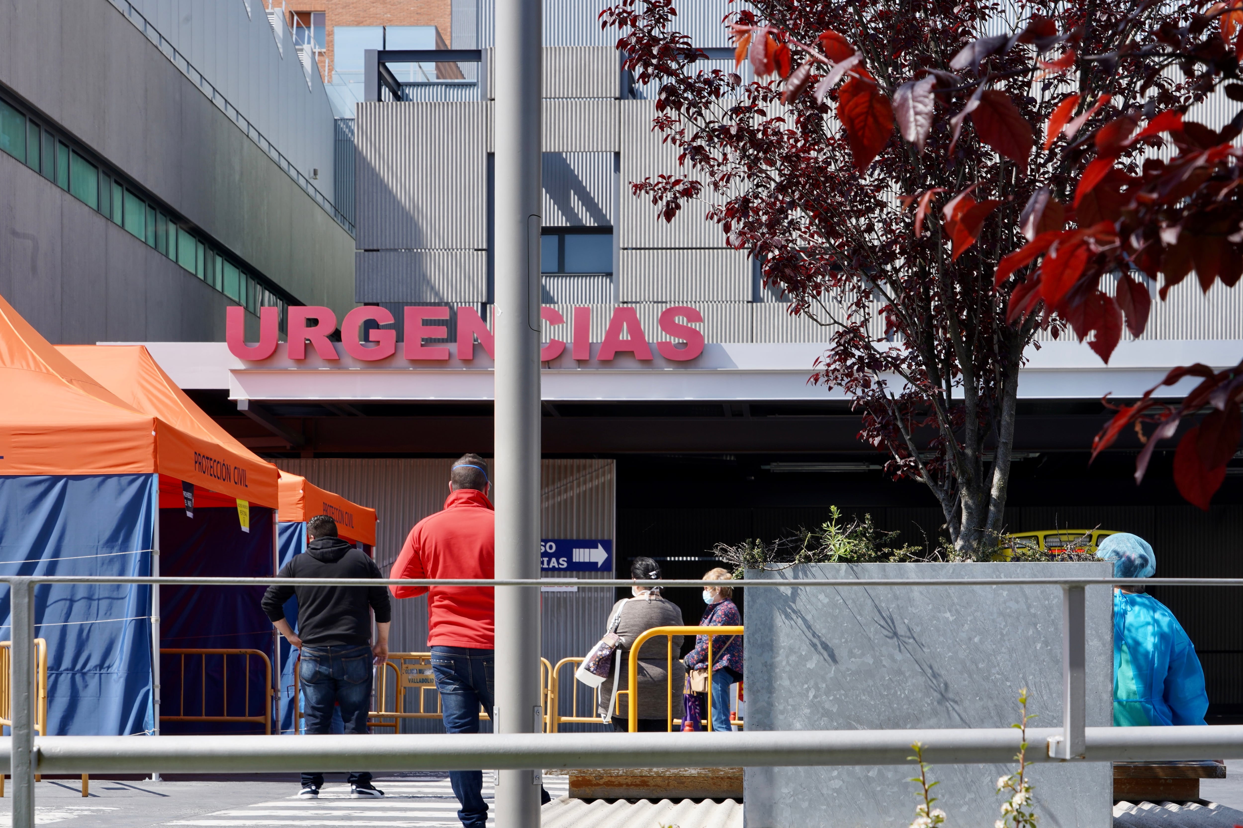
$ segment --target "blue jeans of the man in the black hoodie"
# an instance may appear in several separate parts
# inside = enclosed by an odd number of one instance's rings
[[[333,714],[341,714],[347,734],[367,732],[372,700],[372,648],[303,647],[298,659],[302,708],[308,734],[332,732]],[[349,783],[370,782],[363,771],[349,775]],[[323,785],[323,773],[303,772],[302,785]]]

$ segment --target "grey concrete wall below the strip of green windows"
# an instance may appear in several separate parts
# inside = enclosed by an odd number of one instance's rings
[[[235,302],[4,153],[0,192],[0,295],[48,340],[224,339]]]

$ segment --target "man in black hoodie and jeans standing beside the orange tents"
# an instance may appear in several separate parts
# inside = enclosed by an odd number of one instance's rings
[[[307,521],[307,551],[295,555],[278,577],[287,578],[379,578],[379,567],[365,554],[337,538],[337,524],[328,515]],[[298,632],[285,618],[285,602],[298,598]],[[378,639],[372,644],[368,607],[375,612]],[[372,699],[372,664],[388,659],[388,631],[393,619],[389,591],[383,586],[282,586],[264,593],[264,612],[292,644],[302,650],[298,682],[308,734],[327,734],[333,709],[341,708],[347,734],[367,732]],[[303,773],[303,798],[319,796],[323,773]],[[382,797],[372,775],[349,775],[355,799]]]

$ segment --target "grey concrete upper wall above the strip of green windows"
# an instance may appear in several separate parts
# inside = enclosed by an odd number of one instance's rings
[[[353,238],[111,4],[0,1],[0,82],[297,300],[353,307]]]

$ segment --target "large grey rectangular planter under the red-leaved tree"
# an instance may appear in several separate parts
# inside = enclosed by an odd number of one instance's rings
[[[1106,562],[822,564],[751,571],[791,581],[747,592],[747,730],[1006,727],[1028,688],[1033,726],[1062,725],[1055,586],[799,588],[807,578],[1109,577]],[[1089,587],[1088,724],[1112,720],[1112,597]],[[1033,750],[1044,750],[1034,746]],[[914,766],[746,770],[747,828],[891,828],[915,814]],[[1008,765],[945,765],[948,824],[992,826]],[[1040,822],[1109,828],[1108,762],[1032,771]]]

